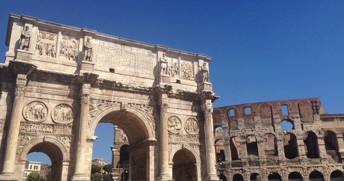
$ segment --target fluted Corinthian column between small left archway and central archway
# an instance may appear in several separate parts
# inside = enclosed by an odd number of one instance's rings
[[[78,127],[77,148],[75,152],[75,170],[72,180],[86,180],[85,176],[85,154],[86,154],[86,131],[87,114],[90,95],[80,94],[80,122]]]

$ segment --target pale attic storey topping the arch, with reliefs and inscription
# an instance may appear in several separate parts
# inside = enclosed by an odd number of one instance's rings
[[[98,74],[99,78],[143,86],[166,83],[168,77],[167,83],[174,88],[192,92],[198,91],[199,84],[203,83],[203,64],[209,70],[208,62],[212,59],[203,54],[14,14],[9,16],[6,45],[9,46],[7,65],[12,60],[24,60],[39,69],[67,74],[88,71]],[[166,54],[167,75],[161,81],[158,77],[163,53]]]

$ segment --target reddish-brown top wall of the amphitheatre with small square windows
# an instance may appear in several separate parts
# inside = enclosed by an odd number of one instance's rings
[[[288,113],[285,115],[282,115],[282,105],[288,107]],[[246,114],[245,108],[250,109],[250,114]],[[230,109],[234,110],[234,115],[229,115]],[[222,120],[230,122],[244,118],[244,120],[253,121],[255,117],[259,116],[263,125],[264,122],[267,122],[266,125],[271,126],[273,115],[279,115],[281,120],[290,119],[292,115],[300,115],[301,121],[307,124],[313,122],[313,114],[326,114],[319,98],[276,100],[217,107],[214,108],[213,119],[214,124],[221,125]]]

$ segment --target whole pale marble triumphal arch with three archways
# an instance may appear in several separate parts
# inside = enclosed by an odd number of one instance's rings
[[[14,14],[6,45],[0,180],[23,180],[31,152],[52,180],[90,180],[98,123],[127,135],[131,180],[218,180],[211,57]]]

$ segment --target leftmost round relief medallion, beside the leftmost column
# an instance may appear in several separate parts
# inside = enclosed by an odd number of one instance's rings
[[[23,116],[28,121],[43,122],[48,113],[46,105],[39,101],[32,101],[23,109]]]

